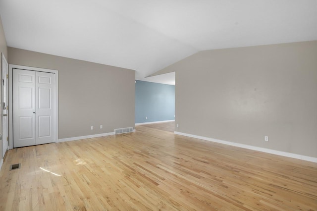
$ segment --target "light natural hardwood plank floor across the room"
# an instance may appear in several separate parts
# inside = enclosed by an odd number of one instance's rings
[[[317,210],[316,163],[136,130],[8,151],[0,210]]]

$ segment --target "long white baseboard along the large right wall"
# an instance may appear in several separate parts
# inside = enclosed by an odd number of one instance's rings
[[[245,148],[245,149],[249,149],[249,150],[260,151],[260,152],[274,154],[274,155],[278,155],[278,156],[285,156],[285,157],[289,157],[289,158],[297,158],[297,159],[307,160],[307,161],[311,161],[311,162],[317,162],[317,158],[315,158],[315,157],[303,156],[303,155],[287,153],[287,152],[282,152],[282,151],[277,151],[277,150],[270,150],[270,149],[266,149],[266,148],[262,148],[262,147],[255,147],[255,146],[246,145],[246,144],[239,144],[239,143],[235,143],[235,142],[222,141],[222,140],[218,140],[218,139],[208,138],[208,137],[204,137],[204,136],[197,136],[197,135],[192,135],[192,134],[188,134],[188,133],[181,133],[181,132],[177,132],[177,131],[175,131],[174,134],[187,136],[187,137],[191,137],[191,138],[196,138],[196,139],[203,139],[206,141],[216,142],[216,143],[230,145],[230,146],[234,146],[234,147]]]

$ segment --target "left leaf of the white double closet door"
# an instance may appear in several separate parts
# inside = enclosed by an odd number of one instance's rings
[[[13,147],[36,144],[35,72],[13,70]]]

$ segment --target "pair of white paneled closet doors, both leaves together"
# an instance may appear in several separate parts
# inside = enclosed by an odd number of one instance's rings
[[[55,74],[13,69],[13,147],[55,142]]]

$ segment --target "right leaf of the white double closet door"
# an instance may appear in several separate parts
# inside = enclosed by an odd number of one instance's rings
[[[36,72],[36,144],[55,142],[55,74]]]

